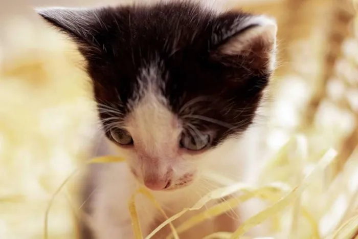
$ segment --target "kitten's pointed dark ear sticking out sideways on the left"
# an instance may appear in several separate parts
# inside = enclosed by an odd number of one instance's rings
[[[100,31],[95,23],[96,9],[37,8],[36,12],[52,26],[70,36],[80,44],[98,45],[95,34]],[[102,26],[101,26],[102,27]]]

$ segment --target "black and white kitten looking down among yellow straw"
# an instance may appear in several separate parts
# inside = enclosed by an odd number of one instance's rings
[[[274,20],[189,2],[38,13],[76,42],[94,85],[103,154],[126,159],[89,170],[92,235],[83,238],[133,238],[128,200],[140,185],[170,216],[223,186],[210,172],[257,176],[254,122],[274,70]],[[137,209],[145,235],[164,220],[144,197]],[[242,214],[235,219],[233,210],[181,237],[234,230]]]

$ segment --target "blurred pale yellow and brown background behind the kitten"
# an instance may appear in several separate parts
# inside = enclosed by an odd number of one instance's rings
[[[89,157],[97,120],[82,58],[33,8],[130,2],[0,2],[0,238],[43,238],[48,203],[78,163]],[[296,237],[354,238],[358,232],[357,1],[216,2],[278,21],[279,65],[258,142],[260,157],[267,159],[262,184],[280,181],[294,187],[325,150],[336,149],[334,163],[296,204],[305,211],[296,215],[300,228]],[[290,140],[297,134],[300,154],[296,141]],[[66,187],[55,200],[49,238],[76,237],[78,209],[73,206],[72,190]],[[273,230],[282,232],[281,238],[288,238],[293,230],[287,224],[290,213],[277,216]],[[346,234],[329,237],[348,221]]]

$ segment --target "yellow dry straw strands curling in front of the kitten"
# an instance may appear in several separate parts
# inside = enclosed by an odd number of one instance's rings
[[[299,141],[298,141],[299,142]],[[299,143],[297,143],[298,146]],[[305,148],[300,148],[302,153],[302,150],[305,151]],[[271,184],[259,188],[255,188],[250,185],[245,185],[243,183],[235,183],[230,186],[219,188],[216,190],[211,191],[207,195],[205,195],[202,199],[200,199],[195,205],[193,205],[191,208],[185,208],[181,212],[176,213],[175,215],[168,218],[164,210],[161,208],[158,202],[156,202],[155,198],[151,195],[151,193],[146,190],[145,188],[140,188],[138,191],[133,194],[132,198],[130,199],[128,203],[128,210],[131,214],[132,219],[132,225],[133,225],[133,232],[135,234],[136,239],[142,239],[144,238],[141,227],[140,227],[140,221],[138,219],[137,211],[136,211],[136,203],[135,203],[135,197],[136,194],[142,193],[144,194],[152,203],[155,205],[156,208],[158,208],[159,211],[167,218],[160,226],[158,226],[156,229],[154,229],[148,236],[146,236],[146,239],[152,238],[152,236],[155,235],[156,232],[160,231],[163,227],[166,225],[170,225],[172,230],[172,235],[168,235],[167,239],[174,238],[178,239],[180,238],[178,236],[178,233],[182,233],[191,227],[194,227],[200,222],[203,222],[206,219],[212,218],[213,216],[225,213],[229,210],[231,210],[233,207],[238,206],[239,203],[244,202],[246,200],[249,200],[250,198],[258,197],[262,198],[264,200],[270,200],[274,201],[275,203],[266,208],[265,210],[259,212],[257,215],[253,216],[253,218],[243,222],[240,227],[233,233],[229,232],[219,232],[214,233],[212,235],[206,236],[206,238],[242,238],[246,232],[248,232],[251,228],[259,225],[263,221],[271,218],[274,214],[279,213],[280,211],[286,209],[289,205],[293,204],[297,198],[300,197],[300,195],[303,193],[303,191],[306,189],[306,187],[311,183],[314,182],[320,175],[322,175],[322,172],[324,169],[330,165],[334,158],[337,156],[337,152],[334,149],[329,149],[326,151],[326,153],[323,155],[323,157],[318,161],[318,164],[316,165],[315,169],[312,170],[307,176],[304,177],[302,182],[300,182],[299,185],[289,190],[289,186],[282,185],[282,184]],[[89,161],[89,163],[119,163],[123,162],[123,158],[115,158],[115,157],[101,157],[94,159],[92,161]],[[72,176],[70,176],[72,177]],[[64,183],[59,187],[59,189],[54,194],[54,197],[58,194],[58,192],[62,189],[64,184],[68,182],[70,179],[67,178]],[[192,218],[190,218],[188,221],[184,222],[182,225],[178,226],[177,228],[174,228],[172,225],[172,222],[178,219],[180,216],[185,214],[188,211],[194,211],[198,210],[206,203],[208,203],[211,200],[215,199],[221,199],[223,197],[227,197],[228,195],[231,195],[236,192],[243,192],[239,198],[234,198],[233,200],[228,200],[226,202],[222,202],[220,204],[214,205],[211,208],[208,208],[203,213],[194,215]],[[48,207],[48,210],[46,212],[46,220],[44,224],[44,235],[45,239],[50,238],[48,235],[47,230],[47,220],[48,220],[48,213],[51,207],[52,201],[50,202],[50,205]],[[302,215],[306,220],[309,222],[310,226],[312,227],[312,238],[320,238],[317,223],[314,219],[312,219],[312,216],[306,211],[304,207],[301,205],[296,205],[295,207],[298,207],[299,210],[302,212]],[[341,237],[341,238],[351,238],[350,236],[355,233],[356,230],[358,230],[358,224],[356,222],[358,220],[358,216],[353,216],[352,218],[348,219],[347,221],[343,222],[340,227],[335,230],[332,235],[328,235],[327,238],[337,238],[337,235],[346,233],[347,236]]]

